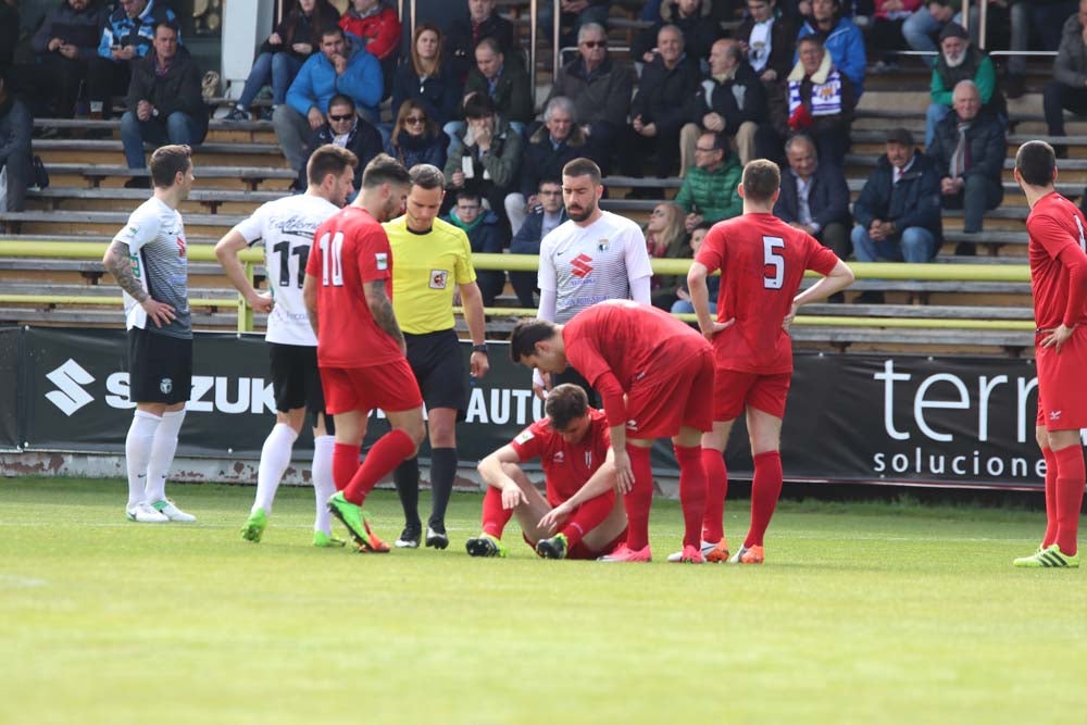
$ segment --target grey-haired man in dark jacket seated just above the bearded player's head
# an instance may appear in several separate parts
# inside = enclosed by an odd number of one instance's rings
[[[544,125],[533,134],[521,157],[521,188],[505,197],[505,214],[513,234],[525,215],[539,204],[535,196],[541,178],[559,178],[562,167],[578,157],[587,157],[585,138],[574,117],[574,103],[557,96],[544,110]]]

